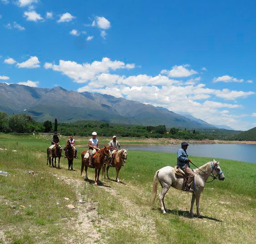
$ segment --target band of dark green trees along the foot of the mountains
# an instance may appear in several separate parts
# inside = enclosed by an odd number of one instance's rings
[[[33,120],[26,114],[13,114],[8,116],[0,112],[0,131],[5,133],[31,133],[31,132],[59,132],[62,135],[91,136],[96,131],[99,136],[145,137],[145,138],[177,138],[177,139],[229,139],[233,134],[223,130],[199,131],[172,127],[166,129],[164,125],[140,126],[111,124],[105,121],[81,120],[73,123],[58,123],[46,120],[43,123]],[[225,136],[223,137],[223,135]]]

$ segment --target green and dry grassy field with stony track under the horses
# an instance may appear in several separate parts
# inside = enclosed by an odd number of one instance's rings
[[[188,214],[191,193],[173,188],[165,197],[167,215],[158,201],[151,208],[154,174],[175,165],[176,155],[129,151],[122,183],[110,169],[113,180],[96,187],[80,176],[80,159],[73,172],[63,158],[61,169],[46,166],[49,144],[50,137],[0,134],[0,148],[7,149],[0,151],[0,170],[11,174],[0,176],[0,243],[256,242],[256,164],[219,159],[226,179],[206,185],[201,219]],[[212,160],[191,159],[197,165]]]

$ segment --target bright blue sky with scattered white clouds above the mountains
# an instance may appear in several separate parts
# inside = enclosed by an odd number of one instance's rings
[[[256,127],[254,1],[0,0],[0,82]]]

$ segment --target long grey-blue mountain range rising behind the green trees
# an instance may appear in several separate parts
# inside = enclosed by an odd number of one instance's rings
[[[26,113],[37,121],[57,118],[59,122],[71,122],[86,119],[148,126],[218,128],[189,114],[177,114],[162,107],[112,95],[79,93],[61,87],[50,89],[0,83],[0,111],[8,114]]]

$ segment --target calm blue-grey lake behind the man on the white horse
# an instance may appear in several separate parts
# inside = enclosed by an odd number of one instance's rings
[[[146,152],[177,153],[180,145],[123,145],[124,149]],[[256,163],[256,144],[189,144],[187,154]]]

